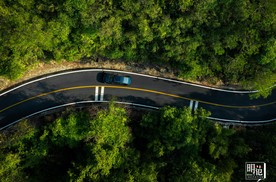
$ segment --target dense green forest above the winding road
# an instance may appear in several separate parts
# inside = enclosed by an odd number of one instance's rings
[[[276,80],[274,0],[2,0],[0,75],[107,57],[263,91]]]

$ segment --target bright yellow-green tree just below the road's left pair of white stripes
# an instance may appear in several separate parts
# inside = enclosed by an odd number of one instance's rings
[[[77,181],[85,179],[99,180],[107,177],[114,168],[119,168],[128,153],[128,142],[131,134],[126,126],[128,118],[123,108],[110,104],[108,110],[97,113],[90,121],[89,132],[85,140],[86,162],[75,163],[79,174],[70,172]]]

